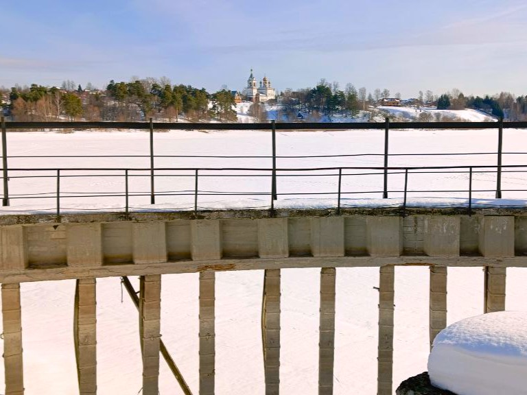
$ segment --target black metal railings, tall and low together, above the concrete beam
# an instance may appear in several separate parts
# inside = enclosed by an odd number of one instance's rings
[[[9,156],[8,145],[7,145],[7,132],[27,129],[137,129],[137,130],[148,130],[150,132],[149,148],[150,152],[148,155],[64,155],[64,156]],[[409,153],[409,154],[390,154],[389,152],[389,138],[390,128],[392,129],[495,129],[497,130],[497,151],[496,152],[469,152],[469,153]],[[268,199],[270,197],[270,204],[268,207],[271,211],[274,211],[275,200],[279,196],[328,196],[334,195],[337,197],[336,211],[340,213],[342,207],[345,206],[342,202],[342,197],[346,195],[380,195],[382,198],[388,198],[388,195],[393,193],[402,193],[403,203],[402,211],[406,211],[407,197],[410,193],[462,193],[468,197],[468,210],[471,213],[472,210],[472,195],[475,192],[493,192],[496,198],[502,197],[504,191],[527,191],[526,189],[502,189],[502,173],[510,172],[527,172],[526,165],[503,165],[502,157],[504,155],[517,155],[527,154],[527,152],[503,152],[503,139],[504,129],[510,128],[527,128],[527,122],[507,122],[504,123],[502,119],[498,122],[438,122],[438,123],[390,123],[386,119],[385,123],[154,123],[152,119],[150,122],[6,122],[3,118],[1,119],[1,131],[2,131],[2,163],[3,163],[3,206],[8,206],[10,200],[17,199],[38,199],[38,198],[49,198],[49,193],[33,193],[33,194],[19,194],[10,195],[9,191],[9,180],[16,178],[56,178],[56,214],[60,215],[61,200],[75,197],[123,197],[125,201],[124,209],[126,215],[130,210],[130,198],[149,196],[150,204],[156,203],[156,196],[194,196],[194,213],[197,214],[198,200],[200,196],[204,195],[237,195],[237,196],[261,196]],[[279,156],[277,155],[277,130],[364,130],[364,129],[384,129],[384,153],[374,154],[342,154],[342,155],[316,155],[316,156]],[[155,155],[154,152],[154,131],[155,130],[270,130],[272,132],[272,139],[270,141],[272,145],[271,156],[207,156],[207,155]],[[432,167],[390,167],[388,161],[393,156],[478,156],[478,155],[496,155],[497,164],[495,166],[432,166]],[[317,167],[317,168],[294,168],[294,169],[278,169],[277,159],[278,158],[349,158],[357,156],[382,156],[383,166],[382,167]],[[53,167],[53,168],[10,168],[8,167],[8,160],[14,158],[149,158],[150,167]],[[155,158],[269,158],[272,160],[272,167],[261,168],[261,167],[155,167]],[[525,170],[522,170],[525,168]],[[113,174],[96,174],[100,171],[111,171]],[[207,172],[215,171],[218,174],[209,174]],[[229,171],[231,173],[229,173]],[[200,191],[198,186],[200,185],[200,179],[205,177],[237,177],[240,176],[240,171],[250,171],[251,177],[268,177],[270,178],[270,189],[267,191],[248,191],[244,193],[235,191]],[[317,172],[325,171],[330,173],[318,174]],[[331,173],[333,171],[333,173]],[[359,173],[350,173],[355,171]],[[373,172],[372,172],[373,171]],[[17,173],[32,172],[36,174],[16,176]],[[49,172],[53,175],[49,175]],[[74,172],[74,173],[73,173]],[[102,193],[66,193],[61,191],[61,179],[72,178],[72,177],[115,177],[115,172],[119,172],[124,177],[125,191],[123,192],[102,192]],[[169,173],[167,173],[169,172]],[[408,184],[411,182],[412,174],[415,173],[464,173],[468,178],[467,189],[441,189],[441,190],[428,190],[428,191],[417,191],[415,189],[409,189]],[[38,175],[40,173],[40,175]],[[160,174],[162,173],[162,174]],[[277,190],[277,180],[283,177],[300,177],[300,176],[331,176],[338,178],[336,187],[333,191],[309,191],[294,192],[294,193],[279,193]],[[495,189],[473,189],[473,173],[495,173],[496,185]],[[388,176],[394,174],[402,174],[404,176],[403,186],[396,190],[388,189]],[[342,178],[349,176],[375,176],[379,175],[383,178],[383,187],[379,190],[373,191],[349,191],[342,190]],[[156,180],[161,177],[194,177],[194,190],[180,190],[180,191],[156,191]],[[130,178],[136,177],[148,177],[150,178],[149,191],[136,191],[130,192],[129,181]]]

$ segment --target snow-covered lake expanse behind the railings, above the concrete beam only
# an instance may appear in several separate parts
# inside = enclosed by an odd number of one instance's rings
[[[524,130],[505,130],[503,165],[527,165]],[[469,156],[405,156],[402,154],[461,154],[496,152],[497,130],[393,130],[390,132],[390,167],[467,166],[456,173],[424,174],[410,171],[408,199],[410,204],[464,205],[468,199],[469,166],[495,166],[495,154]],[[188,158],[166,156],[270,156],[272,153],[270,132],[199,132],[173,131],[154,134],[154,152],[157,168],[260,168],[270,169],[270,158]],[[384,131],[357,130],[349,132],[279,132],[277,133],[277,159],[279,169],[312,169],[320,167],[382,167]],[[146,132],[75,132],[61,133],[12,133],[8,136],[9,156],[109,156],[104,158],[16,158],[9,159],[11,169],[32,168],[125,168],[148,169],[149,137]],[[353,156],[364,155],[365,156]],[[143,156],[119,157],[111,156]],[[340,157],[292,158],[290,156]],[[165,156],[165,157],[163,157]],[[289,156],[285,158],[285,156]],[[509,200],[527,196],[524,181],[527,167],[504,173],[502,177],[502,204],[524,205]],[[496,176],[491,169],[473,169],[473,197],[482,205],[495,195]],[[504,169],[506,171],[506,169]],[[519,172],[518,172],[519,171]],[[342,171],[343,206],[397,206],[401,204],[404,189],[404,171],[393,170],[388,178],[390,198],[381,200],[383,189],[382,170],[344,169]],[[93,176],[86,177],[86,174]],[[358,175],[361,173],[362,175]],[[371,174],[374,173],[374,174]],[[150,206],[150,171],[130,171],[130,207]],[[178,174],[179,176],[175,176]],[[200,171],[201,209],[226,207],[270,206],[270,171]],[[82,177],[80,177],[82,175]],[[300,175],[300,177],[298,177]],[[32,178],[20,178],[31,176]],[[34,176],[38,176],[35,178]],[[223,177],[229,176],[229,177]],[[156,208],[191,209],[194,207],[194,171],[156,171]],[[279,171],[279,201],[277,207],[336,206],[338,170],[327,171]],[[16,213],[26,209],[47,209],[56,206],[56,171],[10,171],[10,196],[12,205],[3,208]],[[435,192],[453,190],[459,192]],[[517,191],[506,191],[517,190]],[[125,206],[124,170],[61,171],[61,210],[113,208]],[[478,192],[479,191],[479,192]],[[24,196],[29,193],[30,196]],[[229,194],[232,193],[232,194]],[[235,195],[246,193],[248,195]],[[257,195],[250,195],[257,193]],[[117,195],[87,197],[87,195]],[[172,195],[170,195],[172,194]],[[174,194],[178,194],[175,196]],[[208,194],[208,195],[207,195]],[[221,195],[218,195],[221,194]],[[69,198],[68,196],[82,196]],[[38,197],[38,199],[36,198]],[[43,199],[43,197],[48,197]],[[452,198],[436,202],[438,198]],[[302,202],[298,202],[302,199]],[[324,199],[325,202],[320,202]],[[416,201],[417,199],[417,201]],[[475,202],[478,203],[478,202]]]

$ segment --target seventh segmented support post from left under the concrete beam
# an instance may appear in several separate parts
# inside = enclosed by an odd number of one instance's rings
[[[392,395],[393,300],[395,267],[382,266],[379,274],[379,356],[377,395]]]

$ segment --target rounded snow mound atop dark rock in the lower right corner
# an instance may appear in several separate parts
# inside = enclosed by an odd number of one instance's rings
[[[458,395],[527,394],[527,313],[467,318],[439,333],[430,381]]]

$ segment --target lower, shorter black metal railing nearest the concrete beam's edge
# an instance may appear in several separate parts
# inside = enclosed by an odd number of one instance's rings
[[[105,173],[99,173],[99,172]],[[38,199],[54,199],[56,205],[54,210],[56,215],[60,215],[61,209],[65,208],[63,204],[64,200],[79,200],[93,197],[117,197],[119,200],[124,202],[124,206],[121,208],[125,211],[126,215],[130,212],[130,199],[137,197],[152,197],[150,191],[130,191],[130,179],[131,178],[150,178],[151,168],[40,168],[40,169],[10,169],[12,173],[21,173],[21,175],[12,176],[11,178],[16,179],[40,179],[40,178],[51,178],[54,179],[56,187],[55,193],[51,192],[36,192],[36,193],[21,193],[10,196],[10,200],[38,200]],[[399,189],[373,189],[373,190],[358,190],[358,189],[343,189],[342,184],[344,178],[353,178],[361,176],[385,176],[386,171],[390,176],[403,176],[403,182]],[[502,165],[500,171],[502,173],[524,173],[527,175],[527,165]],[[162,174],[159,174],[161,173]],[[250,172],[248,174],[247,172]],[[323,172],[323,173],[320,173]],[[25,174],[29,173],[29,174]],[[274,211],[275,201],[278,197],[331,197],[336,198],[336,202],[332,207],[336,210],[337,214],[340,214],[342,208],[351,208],[350,204],[347,204],[347,198],[352,197],[373,197],[381,198],[386,193],[396,193],[400,195],[402,202],[396,203],[401,208],[402,215],[405,215],[406,208],[408,207],[408,198],[410,195],[419,195],[423,193],[456,193],[456,197],[466,198],[466,202],[461,202],[458,205],[461,208],[466,209],[469,214],[473,211],[473,193],[493,193],[494,189],[473,189],[473,176],[475,173],[478,174],[497,174],[497,167],[495,166],[430,166],[430,167],[316,167],[316,168],[296,168],[296,169],[272,169],[272,168],[254,168],[254,167],[227,167],[227,168],[193,168],[193,167],[159,167],[153,169],[154,178],[194,178],[194,189],[180,189],[176,191],[154,191],[154,197],[184,197],[191,198],[194,202],[193,206],[185,207],[187,210],[194,211],[197,215],[200,210],[212,210],[214,206],[200,206],[200,197],[206,196],[224,196],[224,197],[258,197],[262,202],[262,206],[258,207],[235,207],[239,209],[243,208],[262,208],[270,209]],[[119,176],[120,174],[120,176]],[[416,175],[448,175],[456,174],[467,177],[467,187],[463,189],[419,189],[410,188],[412,176]],[[63,191],[61,184],[65,179],[71,178],[121,178],[124,183],[124,191],[108,191],[108,192],[71,192]],[[268,178],[270,179],[270,188],[267,191],[255,190],[255,191],[231,191],[229,189],[216,191],[216,190],[203,190],[199,189],[200,179],[205,178]],[[322,178],[334,178],[335,187],[333,190],[325,191],[285,191],[283,193],[277,193],[272,187],[272,180],[275,178],[301,178],[301,177],[322,177]],[[526,185],[520,189],[503,189],[504,192],[518,192],[525,191],[527,195],[527,177]],[[151,200],[150,200],[151,202]],[[360,204],[358,206],[361,206]],[[390,206],[390,203],[379,204],[378,206]],[[426,206],[425,204],[421,206]],[[427,207],[438,208],[442,204],[429,204]],[[456,204],[449,203],[447,206],[456,206]],[[509,204],[510,206],[510,204]],[[522,204],[524,206],[524,204]],[[67,206],[66,206],[67,207]],[[355,207],[355,206],[353,206]],[[180,208],[182,209],[182,208]],[[83,210],[80,208],[80,210]],[[12,211],[12,210],[10,210]]]

